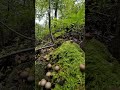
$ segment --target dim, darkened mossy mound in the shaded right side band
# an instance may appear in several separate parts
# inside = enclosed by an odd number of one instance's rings
[[[110,90],[120,86],[120,65],[101,42],[91,39],[85,44],[86,89]]]

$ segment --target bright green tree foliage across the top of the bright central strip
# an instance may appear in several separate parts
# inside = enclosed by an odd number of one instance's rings
[[[39,9],[41,11],[41,13],[44,14],[44,11],[46,10],[47,6],[46,4],[48,4],[48,2],[45,1],[45,5],[44,6],[42,3],[45,0],[40,0],[37,1],[36,3],[36,8]],[[55,2],[55,1],[53,1]],[[42,4],[42,6],[44,6],[43,8],[40,6]],[[51,6],[54,3],[51,3]],[[66,27],[70,27],[71,24],[75,24],[75,25],[79,25],[79,26],[83,26],[85,24],[85,4],[84,2],[82,3],[78,3],[75,4],[75,0],[59,0],[59,8],[58,11],[60,11],[59,15],[61,16],[59,19],[52,19],[51,22],[51,29],[52,29],[52,33],[55,33],[55,37],[59,37],[60,35],[65,33],[65,28]],[[40,9],[41,8],[41,9]],[[43,12],[42,12],[43,11]],[[40,18],[39,18],[40,19]],[[44,28],[40,25],[36,24],[36,38],[39,39],[43,39],[44,37],[46,37],[49,34],[49,30],[48,30],[48,26],[45,26]],[[42,28],[41,28],[42,27]],[[57,32],[57,30],[60,30],[59,32]],[[57,33],[56,33],[57,32]]]

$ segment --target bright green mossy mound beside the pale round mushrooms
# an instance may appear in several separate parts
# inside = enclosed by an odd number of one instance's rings
[[[80,71],[80,64],[85,64],[83,50],[71,41],[64,42],[50,54],[51,63],[60,66],[60,71],[53,70],[53,90],[84,90],[85,73]]]

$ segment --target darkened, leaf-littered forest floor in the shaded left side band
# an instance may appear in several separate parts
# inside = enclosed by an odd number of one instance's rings
[[[0,53],[0,90],[33,90],[34,48],[23,42],[18,47],[7,46]]]

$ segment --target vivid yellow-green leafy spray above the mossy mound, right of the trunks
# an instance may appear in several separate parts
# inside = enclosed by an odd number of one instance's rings
[[[81,5],[77,13],[71,13],[65,19],[54,19],[52,21],[53,29],[60,29],[69,27],[71,24],[84,25],[85,24],[85,6]]]

